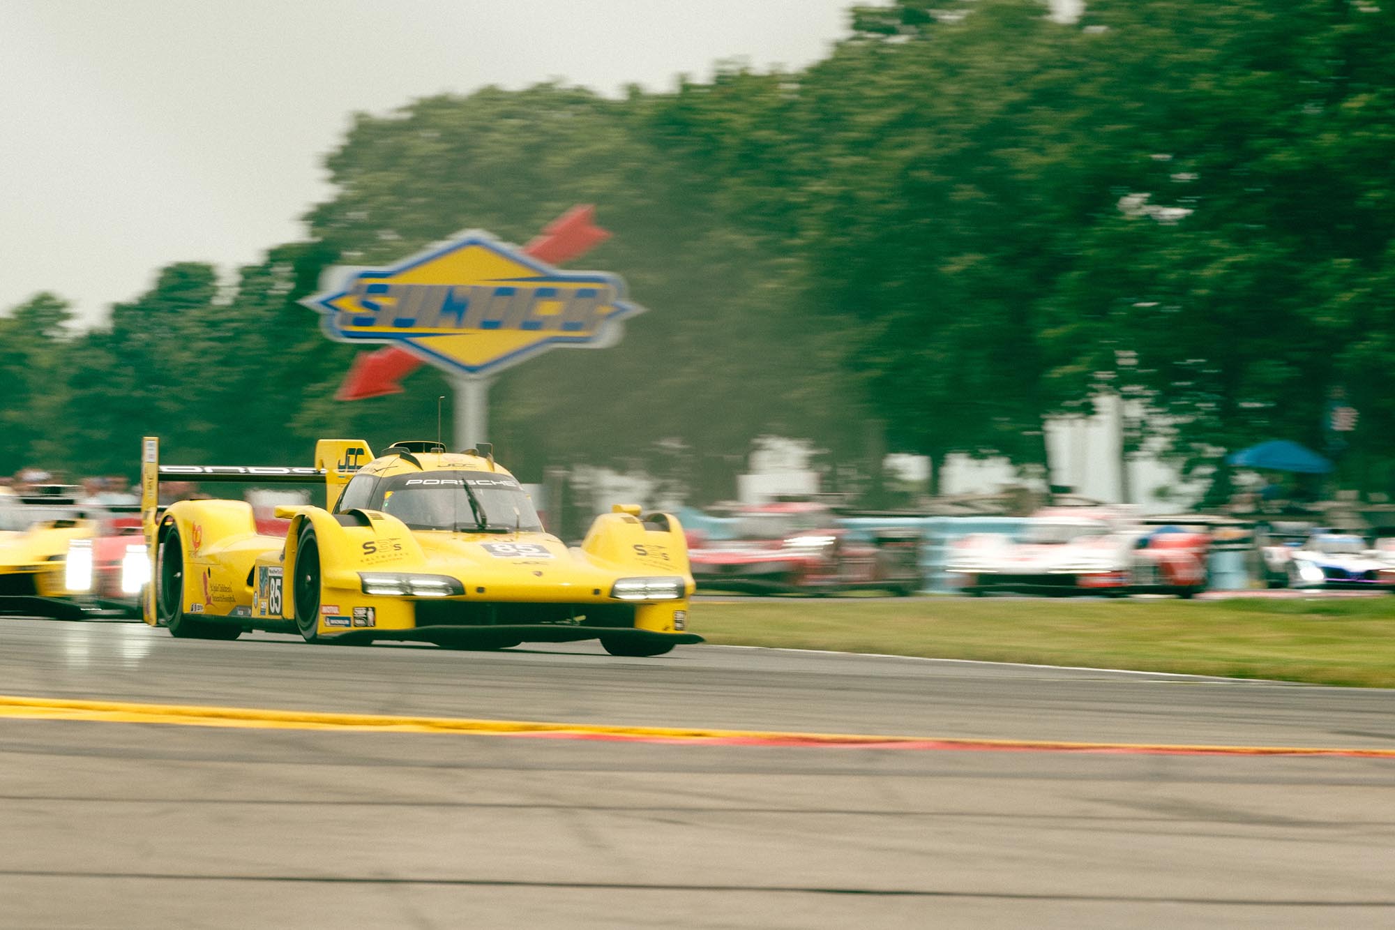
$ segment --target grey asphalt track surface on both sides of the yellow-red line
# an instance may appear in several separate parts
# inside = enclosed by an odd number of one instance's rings
[[[177,641],[0,620],[0,694],[1395,748],[1395,691],[791,651]],[[3,927],[1395,926],[1395,758],[7,718]]]

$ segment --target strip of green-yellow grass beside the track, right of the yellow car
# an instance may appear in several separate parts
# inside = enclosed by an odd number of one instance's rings
[[[1395,687],[1395,598],[737,600],[709,642]]]

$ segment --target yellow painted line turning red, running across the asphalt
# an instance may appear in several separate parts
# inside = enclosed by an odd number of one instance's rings
[[[873,748],[958,748],[1017,751],[1149,753],[1184,755],[1346,755],[1395,758],[1395,750],[1311,746],[1205,746],[1172,743],[1071,743],[1059,740],[883,736],[872,733],[797,733],[723,730],[543,721],[485,721],[453,716],[392,716],[326,714],[243,707],[70,701],[0,695],[0,719],[89,721],[102,723],[163,723],[239,729],[340,730],[379,733],[463,733],[470,736],[538,736],[646,743],[707,743],[727,746],[845,746]]]

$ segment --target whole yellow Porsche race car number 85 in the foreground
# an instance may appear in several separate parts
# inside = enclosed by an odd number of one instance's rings
[[[184,500],[156,515],[160,480],[324,482],[333,504],[278,507],[289,529],[269,536],[240,500]],[[703,641],[686,631],[693,580],[674,517],[615,507],[569,549],[484,444],[398,443],[372,458],[361,440],[319,440],[314,468],[180,466],[159,465],[146,437],[141,499],[155,578],[145,620],[176,637],[269,630],[455,648],[600,640],[625,656]]]

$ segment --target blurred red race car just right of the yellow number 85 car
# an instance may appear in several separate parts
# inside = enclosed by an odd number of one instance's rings
[[[831,593],[880,589],[914,593],[921,584],[914,529],[848,529],[817,503],[748,507],[732,539],[700,539],[689,550],[703,591]]]

